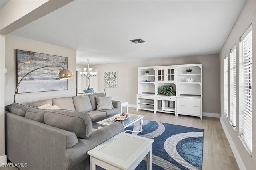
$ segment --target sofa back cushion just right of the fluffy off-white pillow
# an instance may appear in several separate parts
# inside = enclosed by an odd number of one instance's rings
[[[52,104],[57,105],[58,107],[60,107],[60,109],[72,111],[76,110],[72,97],[54,98],[52,99]]]

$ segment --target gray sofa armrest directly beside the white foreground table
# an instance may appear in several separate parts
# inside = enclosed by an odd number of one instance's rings
[[[78,138],[78,143],[67,149],[67,161],[70,167],[78,164],[83,159],[89,158],[87,152],[108,139],[114,137],[120,132],[124,131],[124,126],[120,122],[115,122],[108,126],[102,127],[93,131],[90,137],[86,139]],[[70,168],[68,167],[68,168]]]

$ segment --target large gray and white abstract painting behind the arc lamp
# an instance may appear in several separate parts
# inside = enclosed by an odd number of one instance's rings
[[[68,80],[59,79],[60,70],[68,68],[67,57],[16,50],[16,60],[17,84],[28,72],[43,66],[51,66],[28,74],[20,83],[18,93],[68,90]]]

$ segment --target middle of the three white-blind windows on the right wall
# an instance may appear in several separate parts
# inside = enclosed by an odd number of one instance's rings
[[[230,53],[230,123],[236,129],[236,45]]]

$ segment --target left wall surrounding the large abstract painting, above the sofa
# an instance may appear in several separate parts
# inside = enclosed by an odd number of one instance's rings
[[[68,57],[68,69],[74,74],[74,78],[68,80],[68,90],[17,94],[17,103],[76,95],[76,50],[6,35],[5,68],[7,68],[7,74],[5,74],[5,105],[13,103],[16,89],[16,49]]]

